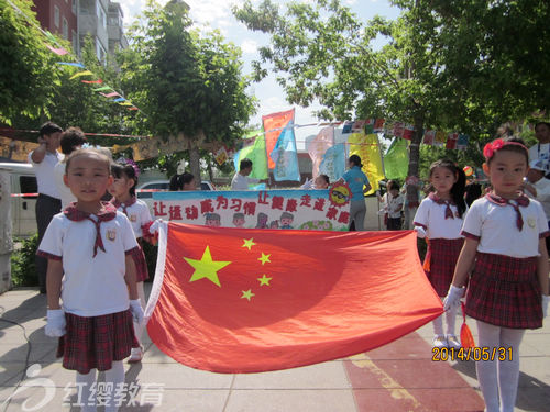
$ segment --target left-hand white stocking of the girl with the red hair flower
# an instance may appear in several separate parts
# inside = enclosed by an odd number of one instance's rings
[[[477,322],[479,345],[483,347],[498,347],[501,327],[485,322]],[[491,349],[490,349],[491,350]],[[477,381],[485,401],[486,412],[499,412],[498,409],[498,378],[496,360],[479,360],[475,363]]]

